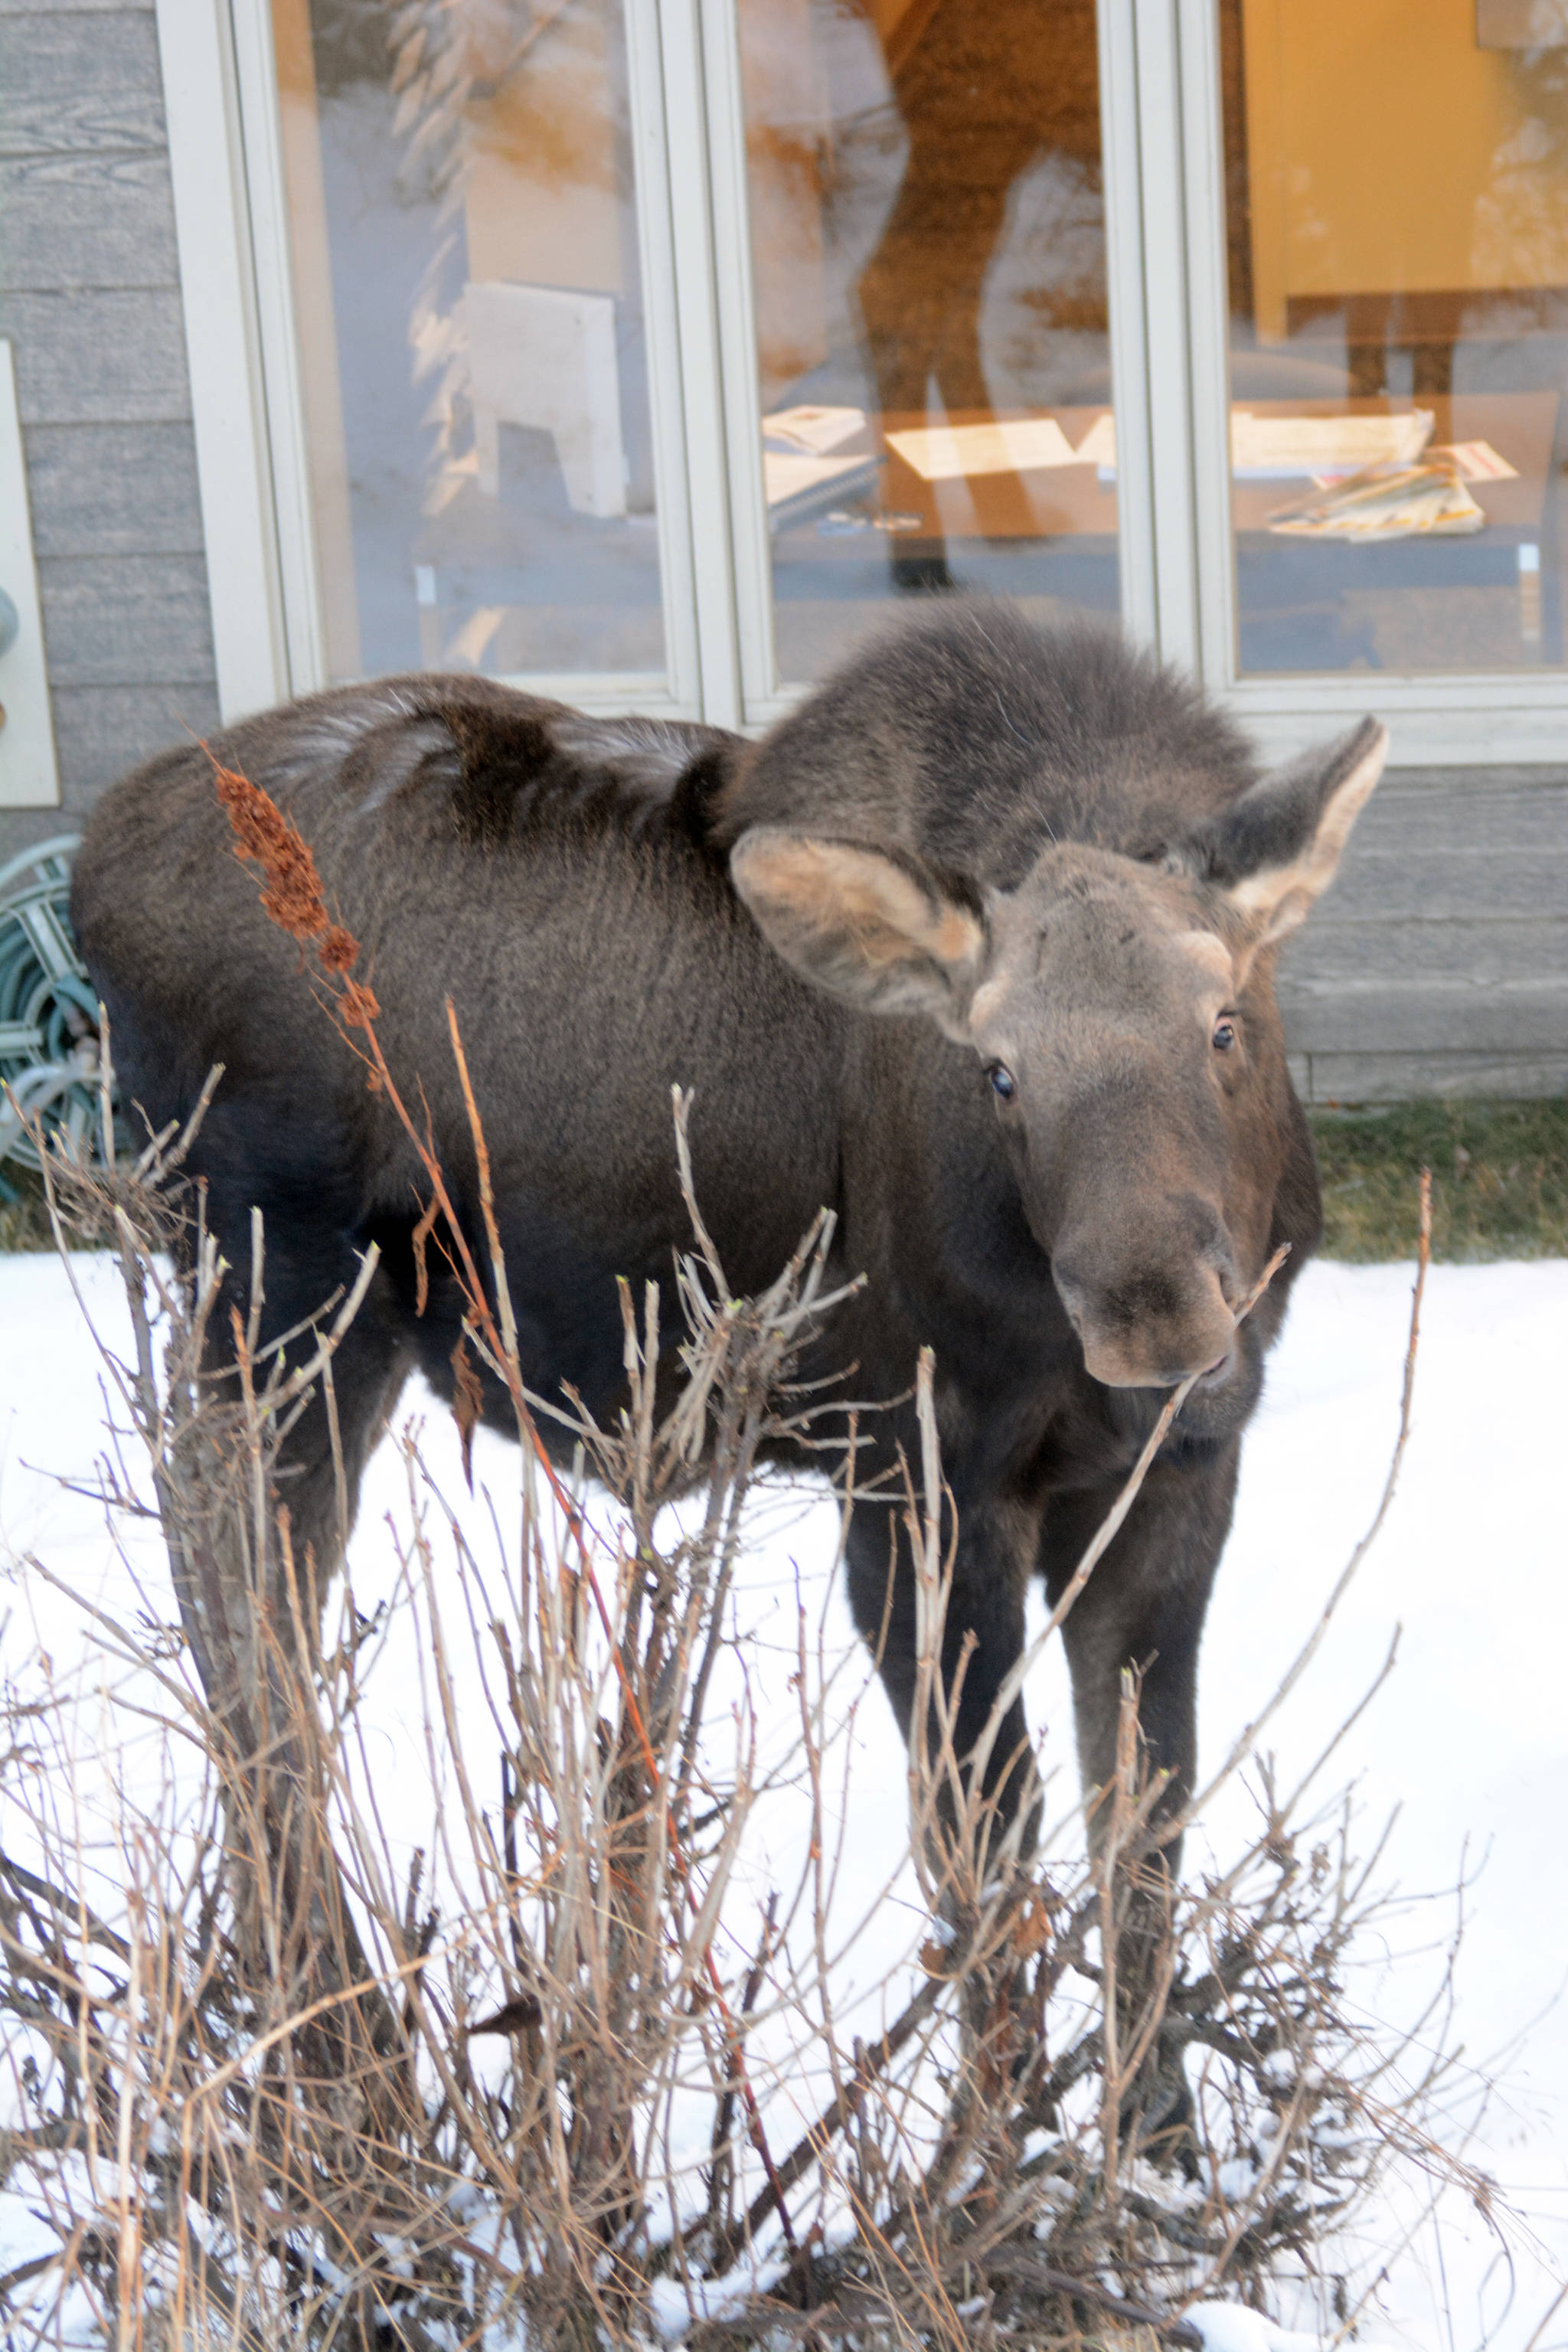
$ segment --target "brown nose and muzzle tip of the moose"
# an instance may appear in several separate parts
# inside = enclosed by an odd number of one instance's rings
[[[1145,1216],[1117,1240],[1070,1232],[1051,1258],[1088,1376],[1107,1388],[1173,1388],[1215,1369],[1237,1329],[1234,1258],[1220,1221]]]

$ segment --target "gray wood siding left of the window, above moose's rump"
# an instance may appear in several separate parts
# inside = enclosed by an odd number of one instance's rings
[[[0,0],[0,334],[12,339],[61,807],[216,727],[207,560],[150,5]]]

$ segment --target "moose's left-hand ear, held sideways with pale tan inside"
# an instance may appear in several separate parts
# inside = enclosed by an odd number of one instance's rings
[[[752,826],[729,856],[762,936],[804,978],[872,1014],[929,1014],[969,1040],[985,924],[903,854]]]

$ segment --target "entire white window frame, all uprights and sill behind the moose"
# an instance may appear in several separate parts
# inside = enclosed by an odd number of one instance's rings
[[[625,0],[668,675],[515,680],[588,710],[757,729],[780,680],[733,0]],[[158,0],[226,720],[324,682],[268,0]],[[1241,677],[1218,0],[1100,0],[1119,583],[1131,637],[1265,755],[1368,706],[1401,764],[1561,762],[1568,675]],[[1152,397],[1159,386],[1159,397]]]

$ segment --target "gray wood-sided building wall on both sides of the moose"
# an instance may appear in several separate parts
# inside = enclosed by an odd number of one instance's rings
[[[63,800],[5,863],[219,722],[150,0],[0,0],[0,334]],[[1281,1002],[1312,1101],[1568,1091],[1568,767],[1392,771]]]

